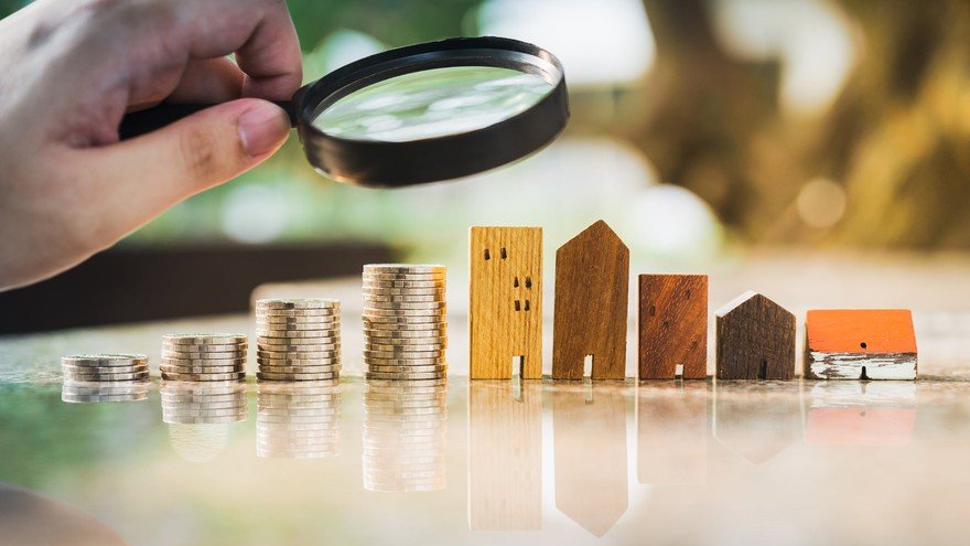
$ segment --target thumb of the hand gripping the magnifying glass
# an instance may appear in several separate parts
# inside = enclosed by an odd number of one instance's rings
[[[97,196],[83,228],[93,243],[110,245],[179,201],[251,169],[289,132],[281,108],[239,99],[143,137],[77,150],[78,191]]]

